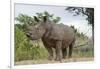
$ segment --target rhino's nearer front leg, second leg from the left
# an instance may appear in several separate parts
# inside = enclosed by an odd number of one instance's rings
[[[56,43],[56,60],[62,62],[62,41]]]

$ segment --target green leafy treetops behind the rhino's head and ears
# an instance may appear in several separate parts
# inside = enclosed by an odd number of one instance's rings
[[[46,16],[49,21],[53,21],[54,23],[58,23],[60,21],[60,17],[55,17],[54,14],[49,14],[47,11],[43,13],[36,13],[36,17],[42,21],[43,17]],[[37,21],[35,21],[34,16],[28,16],[26,14],[19,14],[18,17],[15,17],[16,21],[19,21],[19,25],[21,25],[24,28],[26,28],[27,25],[36,25],[38,24]]]

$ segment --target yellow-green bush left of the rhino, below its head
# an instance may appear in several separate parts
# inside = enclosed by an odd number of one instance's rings
[[[47,51],[39,44],[33,44],[25,35],[23,30],[15,26],[15,61],[45,59]]]

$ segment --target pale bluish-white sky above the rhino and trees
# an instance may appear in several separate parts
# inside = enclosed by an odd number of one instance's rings
[[[66,6],[67,7],[67,6]],[[85,16],[73,16],[72,13],[66,11],[65,6],[47,6],[47,5],[29,5],[29,4],[15,4],[15,17],[17,17],[20,13],[34,16],[38,12],[47,11],[50,14],[54,14],[55,16],[59,16],[61,18],[60,23],[65,25],[74,25],[79,32],[86,33],[87,36],[91,37],[92,31],[91,26],[87,24],[85,20]]]

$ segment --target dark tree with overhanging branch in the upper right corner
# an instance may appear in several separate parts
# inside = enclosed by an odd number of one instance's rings
[[[88,24],[92,26],[92,39],[94,40],[94,8],[85,7],[67,7],[65,10],[74,14],[74,16],[86,16]]]

